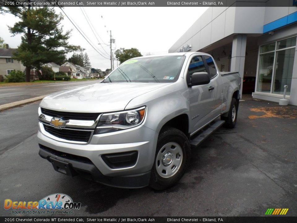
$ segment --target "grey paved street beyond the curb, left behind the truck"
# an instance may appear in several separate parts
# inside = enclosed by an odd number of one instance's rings
[[[41,95],[51,94],[61,90],[67,90],[84,85],[98,83],[98,81],[69,81],[66,83],[33,84],[0,87],[0,105],[16,102]]]

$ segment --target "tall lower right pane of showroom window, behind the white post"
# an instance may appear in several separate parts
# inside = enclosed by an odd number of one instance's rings
[[[296,42],[296,37],[295,37],[295,42]],[[290,95],[294,55],[295,55],[295,48],[276,52],[274,83],[273,83],[272,93],[283,94],[284,85],[288,85],[286,94]]]

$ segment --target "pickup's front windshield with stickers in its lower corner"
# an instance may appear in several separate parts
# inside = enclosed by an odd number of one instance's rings
[[[184,59],[180,55],[127,60],[103,82],[174,82],[179,78]]]

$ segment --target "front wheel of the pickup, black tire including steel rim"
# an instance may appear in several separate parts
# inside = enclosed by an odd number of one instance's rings
[[[191,146],[187,136],[179,129],[161,129],[149,186],[155,190],[164,190],[175,185],[183,176],[190,158]]]

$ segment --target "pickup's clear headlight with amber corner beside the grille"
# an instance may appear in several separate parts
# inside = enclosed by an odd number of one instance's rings
[[[114,132],[135,127],[142,123],[144,115],[145,107],[123,112],[102,114],[94,134]]]

